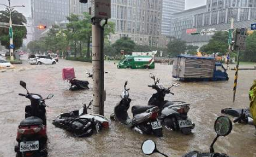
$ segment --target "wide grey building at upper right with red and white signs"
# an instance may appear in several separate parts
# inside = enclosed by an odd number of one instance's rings
[[[173,36],[200,48],[209,42],[215,31],[229,30],[231,19],[235,28],[250,28],[251,23],[256,22],[256,0],[207,0],[204,8],[177,13],[175,17]],[[202,33],[191,35],[195,32]]]

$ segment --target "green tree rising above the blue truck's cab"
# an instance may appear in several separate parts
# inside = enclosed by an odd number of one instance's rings
[[[211,37],[210,42],[200,48],[200,52],[204,52],[206,54],[218,53],[222,56],[228,51],[228,38],[228,32],[216,32],[213,37]]]

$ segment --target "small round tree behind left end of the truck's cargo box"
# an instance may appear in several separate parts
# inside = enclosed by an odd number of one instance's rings
[[[167,44],[167,51],[170,57],[175,57],[181,53],[185,53],[186,47],[185,41],[175,39]]]

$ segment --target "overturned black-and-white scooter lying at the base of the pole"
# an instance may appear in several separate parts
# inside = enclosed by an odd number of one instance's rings
[[[89,137],[94,131],[109,128],[109,120],[98,114],[88,114],[87,109],[91,109],[92,101],[86,107],[68,113],[62,113],[53,121],[56,127],[63,128],[74,134],[75,137]]]

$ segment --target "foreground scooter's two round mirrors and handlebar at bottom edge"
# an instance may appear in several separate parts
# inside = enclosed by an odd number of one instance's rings
[[[226,154],[220,154],[220,153],[215,153],[214,151],[214,144],[217,141],[218,137],[220,136],[227,136],[230,134],[232,130],[232,122],[230,119],[226,116],[220,116],[217,118],[214,124],[215,131],[217,133],[216,138],[214,139],[213,143],[211,143],[210,146],[210,152],[209,153],[201,153],[199,151],[192,151],[189,152],[182,157],[229,157]],[[168,157],[166,154],[161,153],[157,150],[156,148],[156,143],[153,142],[151,139],[145,140],[141,146],[141,150],[145,155],[151,155],[153,153],[159,153],[162,154],[163,156]]]

